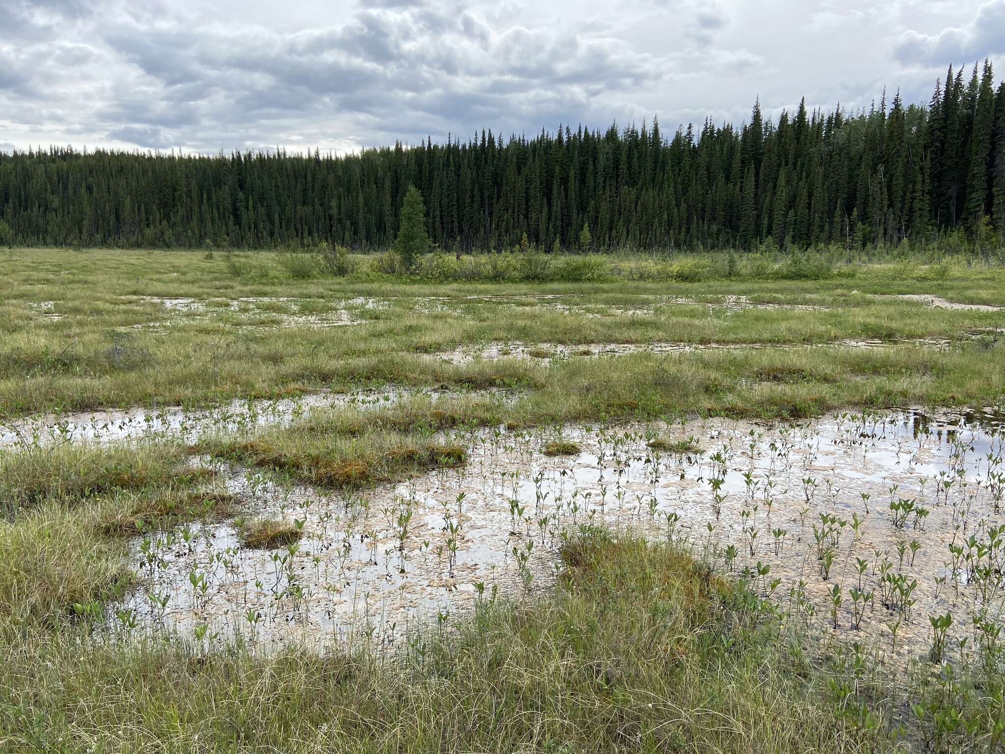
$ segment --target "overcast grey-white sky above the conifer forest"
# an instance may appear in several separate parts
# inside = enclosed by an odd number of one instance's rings
[[[884,85],[927,103],[986,56],[1005,73],[1005,0],[0,0],[0,149],[671,132],[742,123],[758,96],[769,115]]]

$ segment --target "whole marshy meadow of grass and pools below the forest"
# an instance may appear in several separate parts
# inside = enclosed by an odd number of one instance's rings
[[[0,750],[1005,748],[1000,268],[0,254]]]

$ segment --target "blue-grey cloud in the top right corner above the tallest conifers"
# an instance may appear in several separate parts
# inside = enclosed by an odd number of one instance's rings
[[[946,64],[1005,52],[1005,0],[982,5],[973,21],[949,26],[937,34],[903,32],[896,56],[904,62]]]

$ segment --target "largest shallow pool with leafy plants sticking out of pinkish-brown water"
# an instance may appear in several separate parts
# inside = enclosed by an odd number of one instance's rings
[[[449,621],[482,590],[549,588],[563,538],[592,521],[690,543],[724,573],[747,569],[792,620],[887,649],[895,633],[894,653],[927,648],[932,614],[951,611],[956,636],[982,610],[1001,619],[999,414],[570,426],[561,435],[579,451],[549,457],[557,434],[465,434],[453,440],[469,448],[464,467],[350,497],[224,467],[248,517],[303,522],[298,545],[241,548],[233,523],[151,534],[132,545],[143,587],[126,609],[147,629],[206,626],[266,646],[394,636]],[[673,444],[684,440],[693,447]]]

